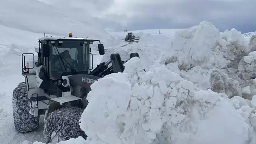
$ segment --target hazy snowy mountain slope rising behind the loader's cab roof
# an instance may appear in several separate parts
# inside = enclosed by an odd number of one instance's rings
[[[74,37],[96,38],[109,44],[114,41],[114,38],[86,13],[60,9],[37,0],[1,1],[0,9],[0,42],[4,38],[16,44],[19,43],[14,40],[36,44],[37,38],[43,37],[44,33],[67,36],[70,32]],[[12,28],[11,32],[15,34],[9,34],[9,28]],[[33,41],[29,41],[27,37],[34,37]]]

